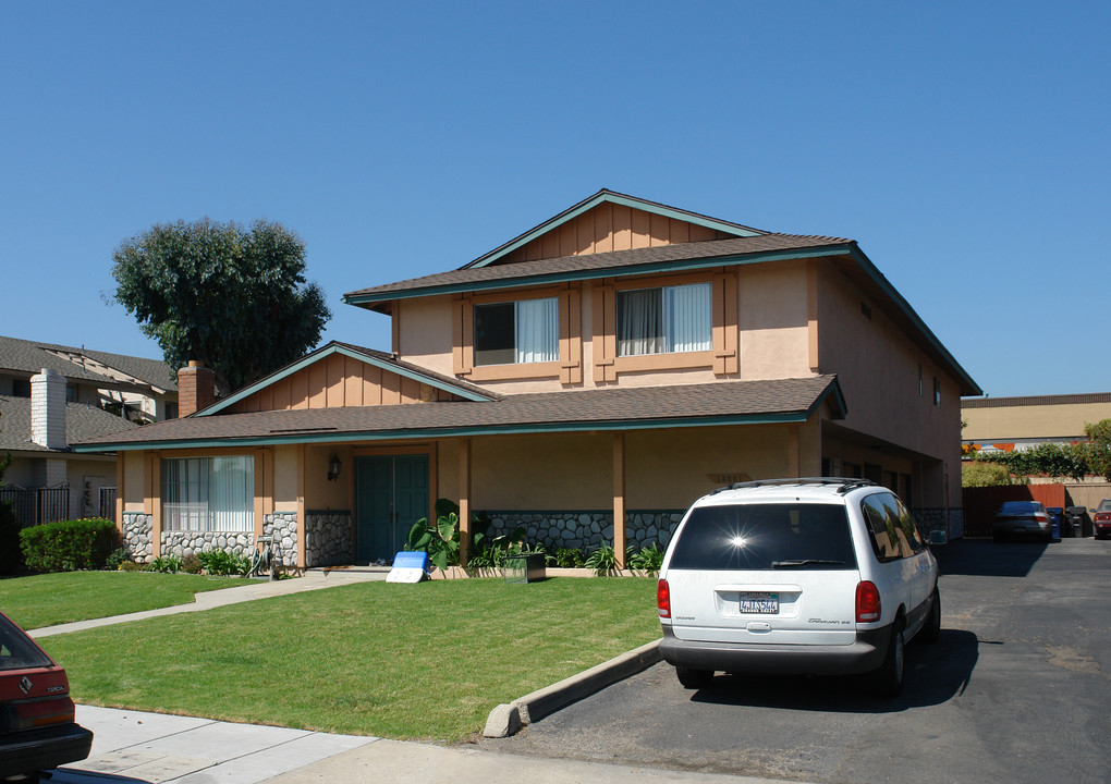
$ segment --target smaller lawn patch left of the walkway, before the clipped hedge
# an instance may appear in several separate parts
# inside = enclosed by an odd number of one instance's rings
[[[158,572],[61,572],[0,580],[0,611],[23,629],[124,615],[174,604],[249,580]]]

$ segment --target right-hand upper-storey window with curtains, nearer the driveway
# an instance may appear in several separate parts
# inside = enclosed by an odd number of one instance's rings
[[[619,291],[618,356],[709,351],[710,284]]]

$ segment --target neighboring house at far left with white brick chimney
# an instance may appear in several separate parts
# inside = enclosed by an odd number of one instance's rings
[[[176,415],[164,362],[0,336],[0,497],[24,524],[113,514],[113,454],[69,444]]]

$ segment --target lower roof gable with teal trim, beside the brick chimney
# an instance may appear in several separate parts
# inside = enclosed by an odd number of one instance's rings
[[[333,341],[194,415],[492,398],[391,354]]]

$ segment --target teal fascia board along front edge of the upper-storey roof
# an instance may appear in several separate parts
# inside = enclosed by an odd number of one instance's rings
[[[498,289],[521,289],[524,287],[569,283],[580,280],[599,280],[601,278],[632,278],[635,275],[652,274],[658,272],[688,272],[691,270],[713,269],[714,267],[741,267],[744,264],[760,264],[768,261],[844,255],[849,252],[849,249],[854,245],[855,243],[839,243],[837,245],[825,248],[765,251],[762,253],[721,255],[707,259],[682,259],[669,262],[647,262],[644,264],[635,264],[631,267],[580,270],[575,272],[552,272],[550,274],[516,278],[510,280],[500,279],[496,281],[474,281],[470,283],[446,283],[442,285],[431,285],[421,289],[410,289],[408,291],[383,291],[376,294],[357,295],[348,294],[343,296],[343,302],[349,305],[370,308],[381,302],[416,299],[418,296],[433,296],[436,294],[457,294],[468,291],[493,291]]]

